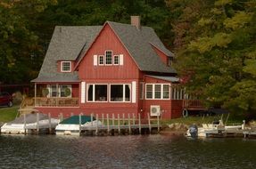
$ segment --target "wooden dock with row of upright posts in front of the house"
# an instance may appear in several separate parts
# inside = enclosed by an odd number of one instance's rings
[[[125,118],[125,115],[123,114],[120,118],[120,114],[118,114],[118,117],[114,117],[114,114],[110,115],[106,114],[106,117],[104,115],[99,118],[99,116],[95,115],[96,121],[101,121],[103,125],[98,125],[96,123],[89,126],[83,126],[81,124],[81,116],[83,114],[79,114],[79,127],[78,131],[69,131],[65,130],[63,134],[67,135],[126,135],[126,134],[149,134],[149,133],[159,133],[161,130],[161,124],[160,124],[160,117],[151,118],[148,114],[147,119],[141,119],[140,115],[138,115],[138,118],[135,117],[133,114],[130,116],[128,114],[128,117]],[[91,121],[93,121],[94,115],[91,114]]]

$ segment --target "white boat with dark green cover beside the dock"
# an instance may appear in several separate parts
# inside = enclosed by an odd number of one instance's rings
[[[79,119],[79,116],[72,116],[57,125],[55,132],[58,135],[79,135],[81,128],[95,127],[96,125],[102,126],[103,124],[101,121],[95,120],[95,117],[92,121],[90,116],[81,116],[81,119]]]

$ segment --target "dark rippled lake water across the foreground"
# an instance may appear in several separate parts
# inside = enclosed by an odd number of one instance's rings
[[[1,135],[0,168],[256,167],[256,140],[173,134],[74,137]]]

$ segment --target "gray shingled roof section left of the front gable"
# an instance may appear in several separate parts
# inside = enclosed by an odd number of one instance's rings
[[[87,49],[103,26],[56,26],[39,75],[32,82],[78,82],[78,72],[57,71],[58,60],[76,60]]]

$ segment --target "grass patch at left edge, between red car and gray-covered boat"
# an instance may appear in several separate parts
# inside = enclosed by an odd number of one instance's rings
[[[0,108],[0,122],[12,121],[16,117],[18,109],[18,106],[13,106],[12,108]]]

